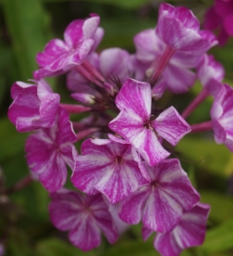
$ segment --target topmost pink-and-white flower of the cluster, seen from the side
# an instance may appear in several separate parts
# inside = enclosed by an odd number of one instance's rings
[[[217,44],[215,35],[200,31],[198,19],[183,6],[161,4],[155,32],[173,50],[195,55],[203,54]]]

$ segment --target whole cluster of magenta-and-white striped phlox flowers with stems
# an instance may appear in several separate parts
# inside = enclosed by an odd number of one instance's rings
[[[101,232],[114,243],[128,224],[141,222],[144,239],[156,232],[154,248],[176,256],[202,244],[210,207],[171,148],[190,132],[213,129],[216,143],[233,151],[233,90],[222,84],[222,65],[206,54],[217,40],[189,9],[164,3],[156,27],[135,35],[135,54],[97,53],[99,22],[96,14],[74,20],[65,41],[45,45],[34,80],[13,84],[8,118],[18,132],[33,132],[25,147],[29,167],[50,192],[52,223],[69,231],[75,246],[98,247]],[[44,80],[62,73],[78,104],[61,103]],[[166,90],[186,93],[197,78],[202,93],[181,115],[156,107]],[[212,121],[190,125],[185,119],[206,96],[214,97]],[[83,112],[84,119],[70,121],[69,114]],[[83,139],[79,154],[75,143]],[[67,166],[76,191],[64,188]]]

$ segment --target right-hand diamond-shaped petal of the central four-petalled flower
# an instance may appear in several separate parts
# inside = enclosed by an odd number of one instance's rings
[[[176,146],[178,141],[190,133],[190,125],[174,107],[162,112],[153,122],[153,129],[165,138],[171,145]]]

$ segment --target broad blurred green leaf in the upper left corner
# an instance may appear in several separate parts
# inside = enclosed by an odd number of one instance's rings
[[[40,0],[3,0],[6,26],[20,70],[18,80],[32,77],[37,69],[35,56],[43,50],[48,39],[49,17]]]

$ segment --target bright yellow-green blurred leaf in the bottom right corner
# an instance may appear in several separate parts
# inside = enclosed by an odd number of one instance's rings
[[[206,233],[200,250],[206,252],[233,249],[233,220],[229,220]]]

